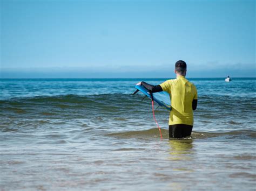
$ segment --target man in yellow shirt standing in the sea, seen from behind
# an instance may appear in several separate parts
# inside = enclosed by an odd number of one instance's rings
[[[193,110],[197,109],[197,88],[185,76],[186,62],[175,63],[176,79],[167,80],[157,86],[139,82],[150,93],[167,91],[170,94],[172,110],[169,118],[169,137],[183,138],[191,135],[193,128]]]

